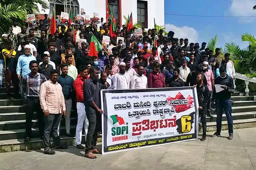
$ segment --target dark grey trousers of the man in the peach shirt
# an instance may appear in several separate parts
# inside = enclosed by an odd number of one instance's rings
[[[44,117],[44,149],[50,148],[50,133],[52,130],[53,141],[56,146],[60,144],[60,137],[58,135],[58,126],[60,123],[61,114],[49,114],[48,117]]]

